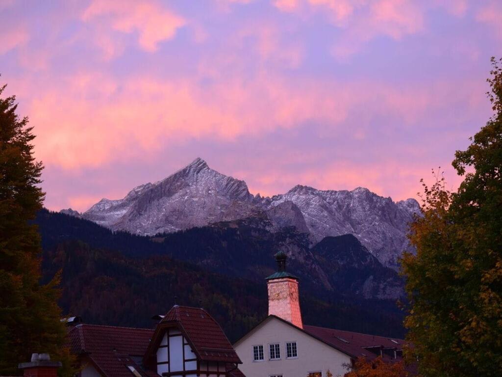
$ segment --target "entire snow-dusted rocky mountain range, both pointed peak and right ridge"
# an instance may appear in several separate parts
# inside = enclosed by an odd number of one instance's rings
[[[298,185],[283,195],[254,197],[244,181],[197,158],[164,180],[136,187],[123,199],[102,199],[81,217],[112,230],[153,235],[266,216],[267,229],[293,227],[308,233],[313,244],[326,236],[353,234],[382,264],[396,268],[407,248],[407,224],[418,212],[414,199],[395,203],[360,187],[320,191]]]

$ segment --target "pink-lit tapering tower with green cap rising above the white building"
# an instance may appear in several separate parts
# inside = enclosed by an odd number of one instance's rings
[[[267,277],[269,316],[275,315],[303,329],[298,277],[286,272],[287,255],[284,252],[278,252],[275,257],[277,272]]]

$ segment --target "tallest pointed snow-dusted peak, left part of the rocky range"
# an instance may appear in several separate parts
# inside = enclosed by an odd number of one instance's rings
[[[102,199],[82,217],[113,230],[152,235],[249,216],[252,200],[244,181],[197,158],[164,180],[136,187],[124,199]]]

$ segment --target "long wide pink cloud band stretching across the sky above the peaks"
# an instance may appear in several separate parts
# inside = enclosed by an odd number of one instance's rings
[[[265,74],[253,82],[234,77],[201,88],[196,78],[143,75],[119,84],[90,72],[59,85],[64,86],[40,91],[28,113],[37,125],[37,156],[63,169],[150,159],[170,143],[193,138],[231,141],[294,129],[307,121],[329,124],[330,132],[336,132],[360,109],[370,109],[372,117],[399,117],[405,125],[413,124],[451,101],[470,99],[446,83],[407,88],[370,81],[290,83]],[[476,91],[482,89],[474,85],[469,92]],[[362,117],[354,138],[364,138],[369,124],[369,118]]]

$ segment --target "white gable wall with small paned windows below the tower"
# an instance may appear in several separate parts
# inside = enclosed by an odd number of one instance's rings
[[[286,359],[286,342],[290,341],[297,342],[298,358]],[[280,360],[269,360],[270,343],[280,343]],[[253,361],[253,346],[259,344],[264,346],[265,360]],[[308,372],[317,370],[327,377],[328,369],[333,377],[338,377],[347,372],[344,364],[350,363],[346,354],[273,317],[238,341],[234,348],[242,360],[239,369],[246,377],[268,377],[272,374],[306,377]]]

